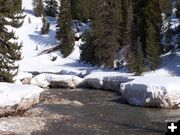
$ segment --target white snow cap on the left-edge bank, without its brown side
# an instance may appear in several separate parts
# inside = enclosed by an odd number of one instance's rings
[[[34,98],[42,91],[37,86],[0,83],[0,108],[17,105],[22,99]]]

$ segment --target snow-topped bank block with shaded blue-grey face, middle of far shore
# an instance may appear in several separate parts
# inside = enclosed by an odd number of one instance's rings
[[[88,87],[119,91],[121,83],[131,81],[130,74],[119,72],[94,72],[84,78]]]

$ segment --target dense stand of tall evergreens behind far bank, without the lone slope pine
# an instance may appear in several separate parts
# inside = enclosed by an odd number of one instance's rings
[[[125,61],[129,71],[137,75],[155,70],[163,52],[161,14],[171,13],[171,1],[98,0],[95,3],[93,27],[85,35],[81,60],[113,68],[118,59]],[[120,50],[124,59],[119,59]]]

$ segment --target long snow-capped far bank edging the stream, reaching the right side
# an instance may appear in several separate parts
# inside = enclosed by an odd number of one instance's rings
[[[30,76],[27,73],[24,73],[24,75]],[[26,78],[23,80],[26,80]],[[76,75],[43,73],[30,80],[32,85],[43,88],[73,89],[86,87],[111,90],[119,92],[129,104],[159,108],[180,107],[179,82],[180,77],[133,76],[128,73],[112,71],[92,72],[84,78]]]

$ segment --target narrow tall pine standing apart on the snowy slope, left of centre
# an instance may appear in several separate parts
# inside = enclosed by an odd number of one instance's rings
[[[62,55],[67,57],[74,49],[70,0],[61,1],[58,27],[57,38],[61,42],[60,50]]]

